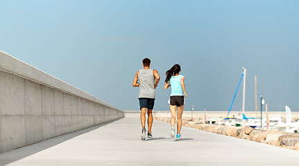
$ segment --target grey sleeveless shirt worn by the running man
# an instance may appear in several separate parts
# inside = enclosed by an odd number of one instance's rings
[[[140,69],[138,74],[139,82],[139,98],[153,98],[155,99],[155,76],[153,69]]]

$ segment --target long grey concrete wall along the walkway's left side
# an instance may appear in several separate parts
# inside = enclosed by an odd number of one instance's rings
[[[123,116],[107,102],[0,51],[0,153]]]

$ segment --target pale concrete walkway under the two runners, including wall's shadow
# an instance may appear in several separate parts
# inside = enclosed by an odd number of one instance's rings
[[[299,165],[299,151],[189,127],[169,138],[169,124],[155,121],[153,138],[140,140],[139,115],[52,138],[0,154],[0,165]]]

